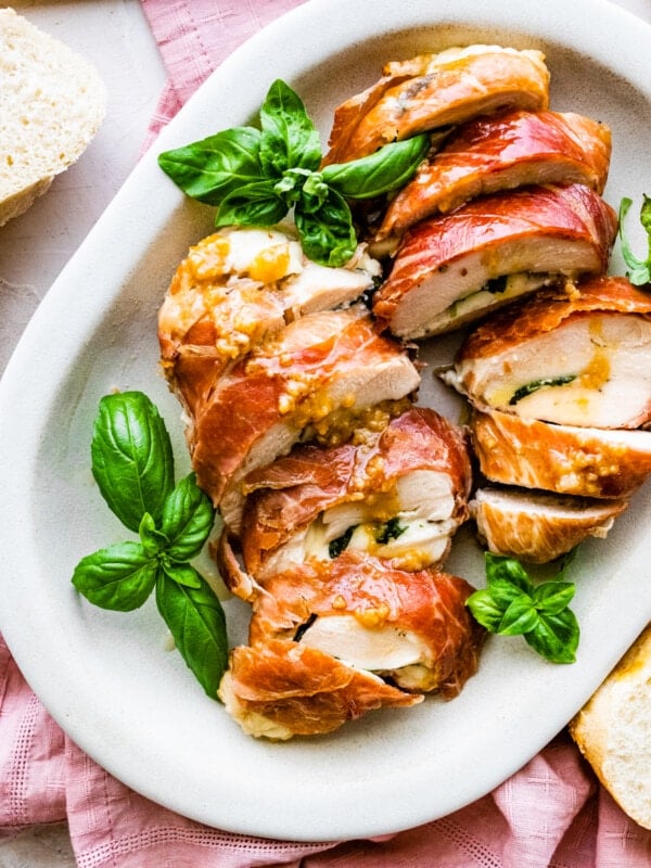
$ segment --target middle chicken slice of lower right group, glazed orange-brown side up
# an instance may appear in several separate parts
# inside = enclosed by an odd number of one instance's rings
[[[651,432],[605,431],[474,411],[482,473],[503,485],[564,495],[626,498],[651,473]]]

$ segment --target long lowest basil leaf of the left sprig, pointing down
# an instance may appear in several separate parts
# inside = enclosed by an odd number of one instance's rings
[[[228,638],[224,610],[210,586],[179,585],[161,571],[156,604],[176,646],[205,692],[216,699],[228,664]]]

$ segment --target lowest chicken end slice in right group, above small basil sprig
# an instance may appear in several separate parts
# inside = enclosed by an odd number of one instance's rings
[[[488,550],[531,563],[548,563],[586,537],[605,538],[626,500],[592,500],[521,488],[486,487],[470,502]]]

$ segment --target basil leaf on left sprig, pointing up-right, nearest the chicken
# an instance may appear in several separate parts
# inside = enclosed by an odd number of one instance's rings
[[[168,558],[190,561],[202,550],[215,522],[215,509],[210,499],[196,484],[190,473],[171,492],[163,507],[161,527],[169,545]]]

